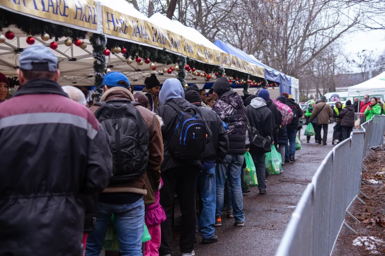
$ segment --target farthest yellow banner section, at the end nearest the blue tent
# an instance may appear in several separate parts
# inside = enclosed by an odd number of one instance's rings
[[[264,67],[248,63],[245,60],[228,53],[222,53],[222,66],[264,78]]]

